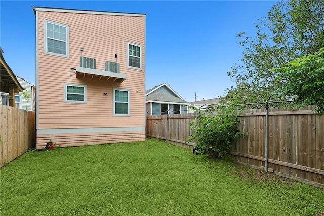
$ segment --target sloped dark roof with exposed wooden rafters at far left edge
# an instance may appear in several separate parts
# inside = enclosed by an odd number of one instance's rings
[[[13,73],[4,56],[2,55],[2,50],[0,48],[0,91],[9,92],[10,89],[15,89],[15,93],[22,91],[24,88],[18,82],[16,75]]]

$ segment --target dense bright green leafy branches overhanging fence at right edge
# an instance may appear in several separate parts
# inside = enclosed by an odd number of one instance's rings
[[[324,48],[272,71],[278,73],[278,94],[291,97],[297,107],[315,105],[314,111],[324,114]]]

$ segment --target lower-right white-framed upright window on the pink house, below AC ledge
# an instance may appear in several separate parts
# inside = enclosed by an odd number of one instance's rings
[[[113,115],[130,115],[130,91],[126,89],[113,89]]]

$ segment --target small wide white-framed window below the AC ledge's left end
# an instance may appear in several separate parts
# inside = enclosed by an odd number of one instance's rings
[[[64,83],[65,103],[87,103],[87,86]]]

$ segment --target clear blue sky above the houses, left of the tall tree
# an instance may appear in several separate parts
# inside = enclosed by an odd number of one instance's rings
[[[242,55],[237,33],[276,1],[0,1],[0,46],[14,73],[35,83],[32,6],[146,13],[146,89],[167,83],[186,101],[211,99],[234,85],[227,76]]]

